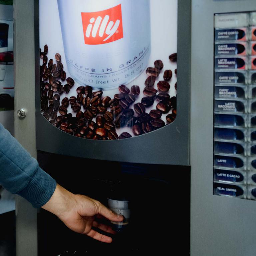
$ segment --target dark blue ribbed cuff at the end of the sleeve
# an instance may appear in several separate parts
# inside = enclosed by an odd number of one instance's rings
[[[40,208],[49,201],[56,185],[56,180],[38,166],[29,184],[18,195],[28,200],[34,208]]]

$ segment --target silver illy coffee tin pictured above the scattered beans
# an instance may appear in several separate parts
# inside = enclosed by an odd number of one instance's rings
[[[78,83],[114,89],[146,68],[148,0],[58,0],[58,8],[68,70]]]

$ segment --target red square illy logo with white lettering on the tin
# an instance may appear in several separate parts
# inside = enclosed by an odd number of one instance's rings
[[[99,12],[82,12],[85,44],[106,44],[123,38],[121,4]]]

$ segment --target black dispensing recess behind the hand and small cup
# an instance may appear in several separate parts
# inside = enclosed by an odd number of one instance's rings
[[[38,214],[39,256],[135,255],[179,250],[189,255],[190,167],[144,165],[75,158],[38,151],[40,166],[75,194],[107,206],[107,198],[130,201],[130,222],[105,244],[69,230],[56,216]],[[105,223],[111,225],[107,220]],[[104,233],[104,232],[103,232]],[[75,252],[75,254],[74,254]]]

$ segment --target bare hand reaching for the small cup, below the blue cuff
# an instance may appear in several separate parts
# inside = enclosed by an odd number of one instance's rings
[[[99,201],[84,195],[74,195],[59,184],[51,199],[42,208],[59,217],[71,230],[105,243],[111,243],[112,238],[100,234],[92,227],[110,234],[115,232],[110,226],[97,222],[96,217],[103,216],[115,222],[123,221],[123,216],[112,212]]]

